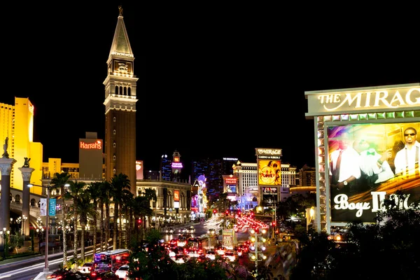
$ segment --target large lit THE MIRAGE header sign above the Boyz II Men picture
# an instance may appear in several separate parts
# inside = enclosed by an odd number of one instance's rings
[[[419,109],[420,84],[365,87],[354,90],[305,92],[308,99],[306,116],[330,113],[357,113],[381,109]]]

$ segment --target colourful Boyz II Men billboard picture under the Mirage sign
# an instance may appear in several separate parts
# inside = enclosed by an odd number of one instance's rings
[[[327,125],[331,222],[374,222],[397,190],[402,207],[419,200],[417,132],[420,123]]]

